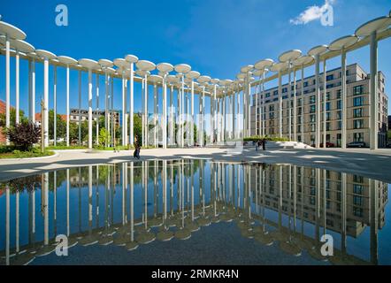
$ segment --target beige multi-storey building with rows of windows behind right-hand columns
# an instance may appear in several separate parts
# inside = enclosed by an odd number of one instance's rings
[[[320,93],[322,97],[320,114],[320,143],[323,143],[324,126],[324,75],[320,75]],[[317,126],[317,101],[315,76],[307,77],[303,81],[296,80],[296,133],[297,141],[307,144],[315,143]],[[288,84],[282,86],[282,134],[284,137],[294,140],[294,83],[291,85],[291,97],[288,97]],[[370,76],[365,73],[360,65],[347,66],[347,143],[365,142],[370,145]],[[378,112],[379,119],[379,147],[385,147],[387,143],[387,103],[385,93],[385,77],[383,73],[378,75]],[[256,115],[256,97],[253,97],[251,107],[251,135],[260,135],[259,118],[260,105],[264,101],[263,119],[265,119],[265,134],[277,136],[279,134],[279,88],[265,90],[265,99],[258,94],[258,109]],[[289,118],[289,113],[291,117]],[[341,147],[341,68],[330,70],[326,73],[326,142]],[[289,122],[291,131],[289,131]],[[289,136],[289,133],[290,136]]]

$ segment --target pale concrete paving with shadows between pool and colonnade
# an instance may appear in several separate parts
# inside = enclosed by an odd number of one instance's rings
[[[266,164],[296,164],[339,172],[357,173],[391,183],[391,149],[143,149],[142,160],[206,158],[226,162],[256,162]],[[134,161],[133,151],[58,151],[57,157],[29,160],[0,160],[0,181],[61,168],[88,164]]]

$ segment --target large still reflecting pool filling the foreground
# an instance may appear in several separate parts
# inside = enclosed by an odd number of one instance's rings
[[[0,184],[0,264],[391,264],[388,188],[194,159],[45,172]]]

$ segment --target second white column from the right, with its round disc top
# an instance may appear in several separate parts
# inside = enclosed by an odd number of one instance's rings
[[[346,53],[347,49],[358,41],[356,35],[343,36],[330,43],[329,50],[341,51],[341,96],[342,96],[342,127],[341,127],[341,148],[346,149],[347,130],[347,92],[346,92]]]

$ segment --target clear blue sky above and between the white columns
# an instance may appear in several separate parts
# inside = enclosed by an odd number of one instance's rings
[[[332,2],[334,7],[333,27],[323,27],[319,20],[305,25],[290,23],[290,19],[295,19],[308,7],[320,7],[325,0],[46,0],[35,4],[19,0],[2,3],[0,14],[4,21],[24,30],[27,42],[36,49],[50,50],[57,55],[98,60],[134,54],[154,63],[187,63],[194,70],[213,78],[233,79],[243,65],[254,64],[266,57],[276,60],[286,50],[307,52],[315,45],[328,44],[340,36],[353,34],[360,24],[386,15],[391,8],[388,0],[328,2]],[[68,7],[68,27],[55,24],[58,4]],[[379,68],[387,79],[391,79],[391,57],[387,55],[390,50],[391,40],[380,42]],[[349,53],[348,62],[358,62],[368,71],[369,48]],[[339,65],[338,57],[329,62],[328,68]],[[27,111],[27,63],[21,64],[21,73],[21,108]],[[309,68],[307,73],[313,73],[313,69]],[[71,76],[74,96],[71,107],[77,107],[77,73],[73,72]],[[41,65],[37,65],[36,80],[38,100],[42,96]],[[12,60],[12,105],[15,101],[13,81]],[[270,87],[276,83],[273,82]],[[390,84],[387,81],[388,94],[391,93]],[[83,107],[87,107],[86,74],[83,75],[82,89]],[[120,81],[116,82],[115,89],[119,97]],[[141,86],[137,85],[136,96],[140,96],[140,91]],[[4,57],[0,57],[0,98],[5,98]],[[58,70],[58,100],[58,111],[64,113],[64,70]],[[115,104],[119,109],[119,100]],[[136,111],[140,110],[140,106],[141,99],[136,98]]]

